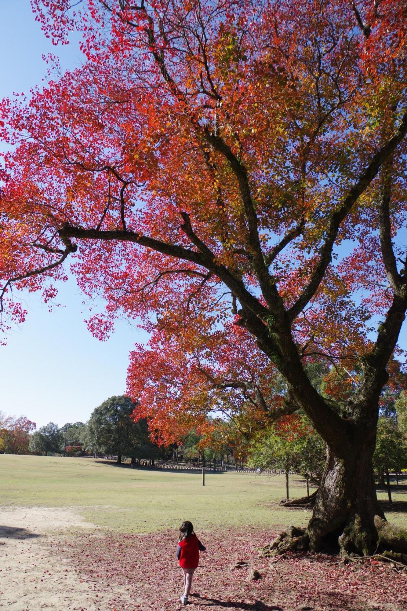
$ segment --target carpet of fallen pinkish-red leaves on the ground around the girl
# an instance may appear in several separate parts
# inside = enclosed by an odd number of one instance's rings
[[[194,576],[191,611],[384,611],[390,604],[395,611],[402,611],[407,607],[405,574],[377,560],[345,566],[337,558],[321,554],[270,561],[259,558],[257,549],[273,538],[271,531],[227,529],[200,535],[207,553],[201,555]],[[166,610],[177,608],[182,590],[176,542],[172,531],[147,535],[78,534],[74,543],[64,547],[84,580],[100,580],[100,587],[109,586],[113,591],[116,586],[129,588],[134,609],[141,606],[145,610]],[[238,560],[246,560],[248,566],[230,571],[230,564]],[[246,582],[250,568],[263,578]],[[133,609],[118,600],[114,606],[117,611]]]

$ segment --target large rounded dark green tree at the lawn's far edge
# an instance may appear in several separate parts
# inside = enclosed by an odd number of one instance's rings
[[[130,397],[110,397],[94,409],[90,415],[86,432],[86,449],[117,455],[117,463],[122,456],[155,459],[160,456],[160,448],[149,439],[147,422],[134,422],[131,417],[136,404]]]

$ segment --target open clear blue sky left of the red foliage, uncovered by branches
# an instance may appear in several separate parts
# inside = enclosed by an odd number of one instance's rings
[[[0,98],[28,93],[46,76],[42,55],[56,53],[62,70],[82,62],[78,40],[55,48],[35,22],[29,0],[2,2],[0,24]],[[0,143],[1,150],[1,143]],[[50,420],[86,422],[103,400],[125,391],[128,354],[144,334],[119,321],[116,333],[98,342],[83,323],[86,307],[75,279],[60,287],[57,301],[65,307],[48,308],[38,295],[26,295],[28,317],[0,346],[0,411],[26,415],[37,428]],[[401,343],[407,349],[406,324]]]

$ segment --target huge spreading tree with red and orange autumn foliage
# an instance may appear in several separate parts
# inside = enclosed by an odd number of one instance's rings
[[[151,333],[128,390],[164,441],[303,409],[328,459],[302,547],[376,549],[372,456],[407,307],[405,3],[34,0],[87,62],[1,104],[1,309],[64,262],[97,337]],[[42,10],[42,7],[45,7]],[[376,324],[380,320],[380,324]],[[343,407],[312,383],[325,360]]]

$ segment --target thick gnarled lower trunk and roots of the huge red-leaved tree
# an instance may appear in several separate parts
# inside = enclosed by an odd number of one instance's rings
[[[391,530],[376,497],[372,439],[360,439],[354,447],[354,453],[347,458],[339,458],[328,449],[325,471],[307,528],[291,527],[281,533],[272,544],[266,546],[266,555],[336,549],[341,555],[353,553],[368,556],[378,550],[379,539],[382,544],[386,541],[385,547],[389,549],[396,541],[391,549],[407,551],[407,531],[404,539],[400,529],[397,533]],[[380,537],[377,529],[379,523],[383,533]]]

